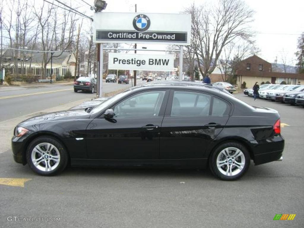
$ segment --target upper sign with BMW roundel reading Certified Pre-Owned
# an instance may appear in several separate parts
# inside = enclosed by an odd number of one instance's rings
[[[96,43],[161,43],[189,45],[189,14],[95,13]]]

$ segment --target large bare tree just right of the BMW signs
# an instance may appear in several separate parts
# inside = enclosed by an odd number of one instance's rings
[[[195,51],[202,75],[212,73],[223,48],[236,38],[250,39],[249,23],[253,11],[240,0],[219,0],[216,6],[194,4],[186,10],[192,17],[192,29],[200,41]],[[201,62],[202,60],[202,62]]]

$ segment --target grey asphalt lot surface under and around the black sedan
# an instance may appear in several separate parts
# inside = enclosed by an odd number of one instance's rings
[[[24,187],[23,181],[0,185],[0,227],[303,227],[304,108],[236,97],[279,111],[282,162],[251,163],[233,182],[220,181],[209,170],[171,169],[68,168],[41,177],[15,163],[11,149],[2,147],[0,180],[27,180]],[[276,214],[296,216],[274,221]],[[9,216],[40,221],[9,221]]]

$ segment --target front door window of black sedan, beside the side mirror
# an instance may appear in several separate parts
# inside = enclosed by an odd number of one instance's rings
[[[115,117],[158,116],[165,91],[143,92],[126,98],[114,107]]]

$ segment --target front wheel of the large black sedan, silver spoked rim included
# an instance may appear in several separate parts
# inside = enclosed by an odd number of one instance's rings
[[[26,161],[34,172],[52,176],[64,170],[68,155],[64,146],[54,138],[39,137],[29,144]]]

